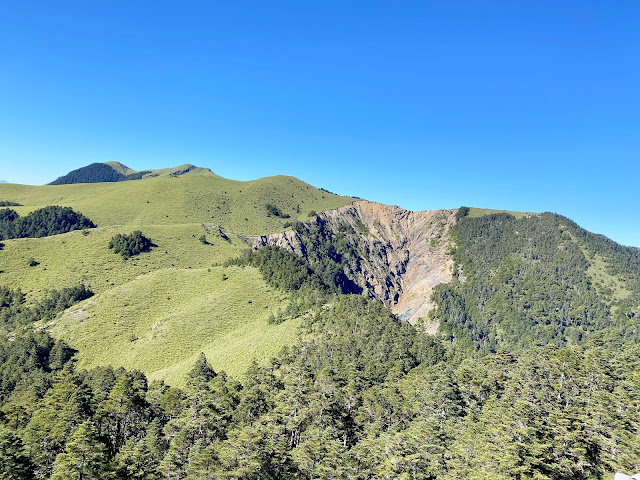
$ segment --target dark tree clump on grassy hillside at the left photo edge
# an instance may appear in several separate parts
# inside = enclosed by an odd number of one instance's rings
[[[95,228],[95,225],[70,207],[44,207],[25,217],[20,217],[9,208],[0,210],[0,240],[48,237],[83,228]]]

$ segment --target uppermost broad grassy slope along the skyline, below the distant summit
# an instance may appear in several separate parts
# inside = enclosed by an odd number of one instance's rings
[[[249,182],[213,175],[158,177],[144,182],[75,185],[2,185],[0,198],[18,202],[20,215],[46,205],[70,206],[98,226],[217,224],[243,235],[281,230],[287,221],[267,216],[276,205],[291,220],[306,220],[311,210],[337,208],[351,202],[296,178],[276,176]]]

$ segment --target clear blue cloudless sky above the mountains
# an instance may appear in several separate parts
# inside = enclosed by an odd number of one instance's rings
[[[0,179],[287,174],[640,246],[640,2],[0,4]]]

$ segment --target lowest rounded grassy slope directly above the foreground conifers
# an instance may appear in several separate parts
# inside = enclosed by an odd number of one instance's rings
[[[294,341],[297,322],[267,324],[283,300],[253,268],[160,269],[72,307],[51,332],[79,350],[81,367],[137,368],[181,384],[204,352],[239,376]]]

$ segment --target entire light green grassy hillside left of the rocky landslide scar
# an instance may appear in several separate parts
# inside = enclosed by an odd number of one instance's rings
[[[203,351],[217,369],[239,375],[294,339],[297,323],[267,324],[286,298],[257,270],[217,266],[240,254],[242,237],[282,230],[310,211],[353,201],[286,176],[249,182],[211,173],[71,185],[0,185],[20,215],[72,207],[98,228],[4,240],[0,285],[28,301],[79,283],[96,295],[47,328],[79,350],[82,366],[138,368],[179,384]],[[267,205],[277,207],[270,214]],[[288,216],[288,217],[287,217]],[[125,260],[109,250],[116,234],[141,230],[156,245]],[[200,237],[204,235],[206,242]],[[31,260],[35,260],[37,265]],[[224,279],[223,279],[224,278]]]

